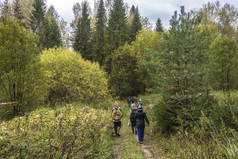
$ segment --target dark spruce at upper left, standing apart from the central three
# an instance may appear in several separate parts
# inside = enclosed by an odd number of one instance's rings
[[[31,22],[31,29],[33,33],[39,36],[39,45],[45,48],[47,42],[45,37],[45,28],[46,28],[46,21],[45,21],[45,10],[46,5],[44,0],[34,0],[33,3],[33,10],[31,12],[30,22]]]

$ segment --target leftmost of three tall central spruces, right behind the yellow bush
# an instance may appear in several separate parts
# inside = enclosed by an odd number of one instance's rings
[[[88,14],[88,5],[85,1],[82,8],[82,17],[79,19],[77,24],[73,48],[76,52],[80,52],[82,57],[87,60],[92,60],[90,40],[90,19]]]

